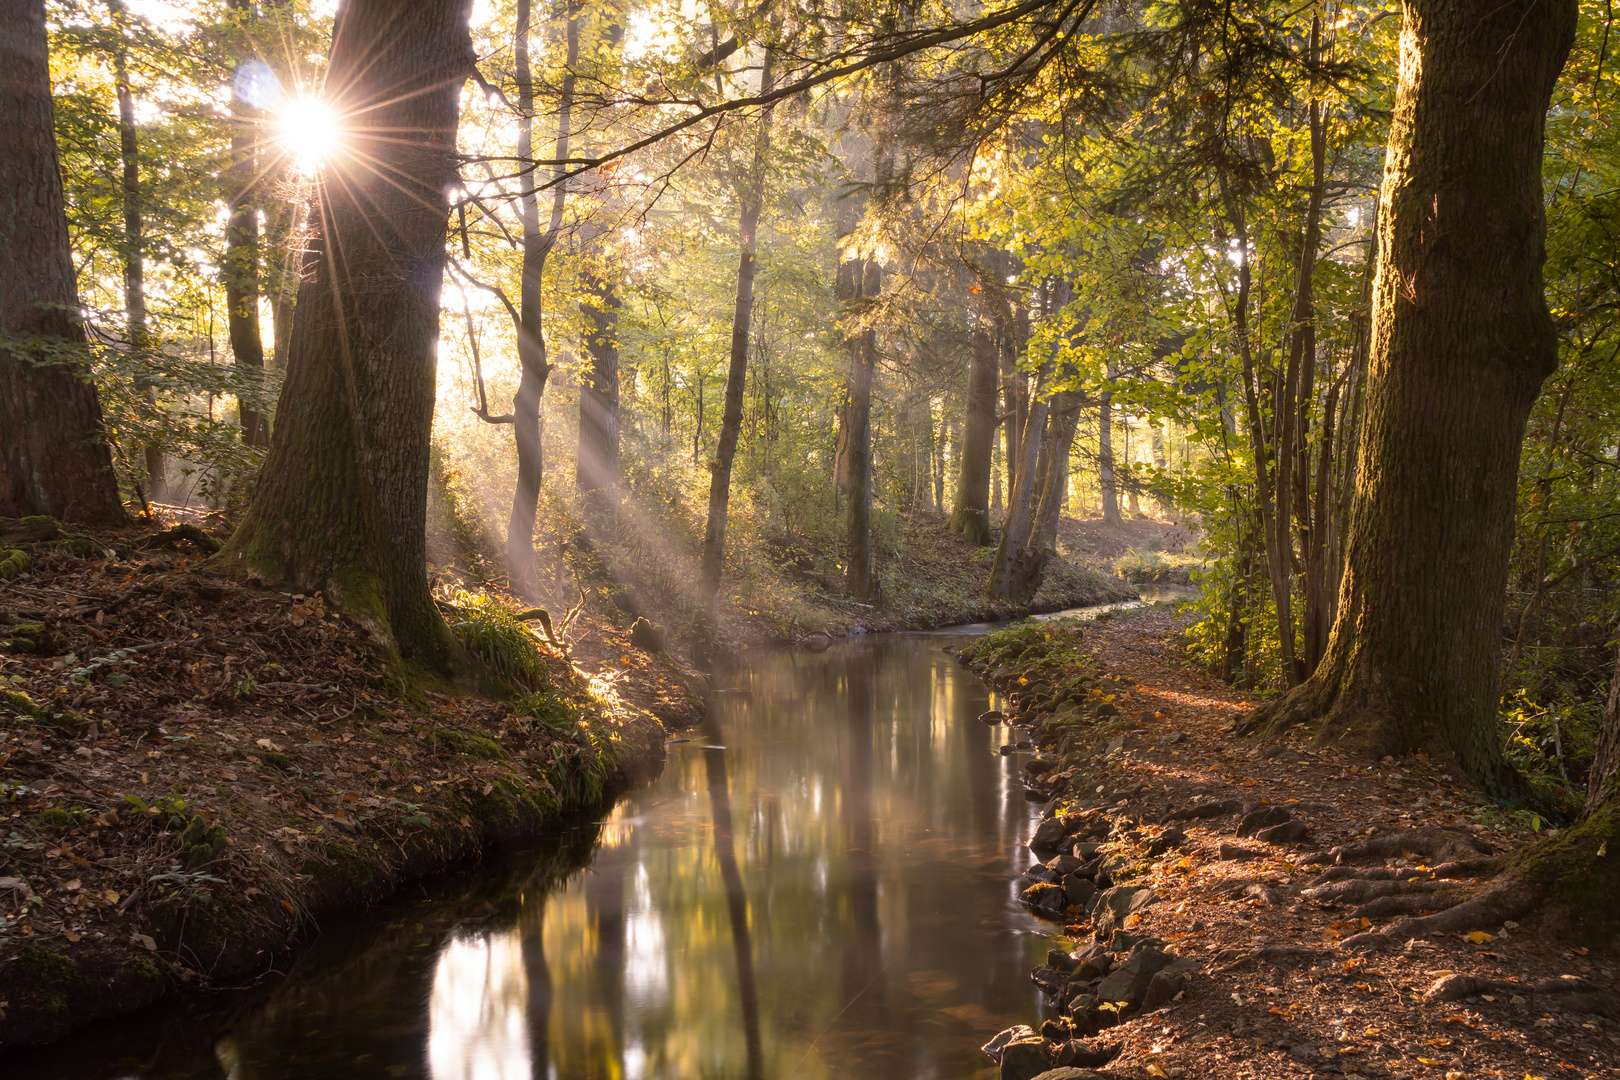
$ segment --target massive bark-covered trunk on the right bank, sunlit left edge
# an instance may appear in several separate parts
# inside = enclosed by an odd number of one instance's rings
[[[1379,214],[1367,416],[1340,612],[1260,721],[1324,717],[1505,780],[1494,730],[1524,421],[1557,364],[1542,296],[1547,104],[1571,0],[1409,0]]]

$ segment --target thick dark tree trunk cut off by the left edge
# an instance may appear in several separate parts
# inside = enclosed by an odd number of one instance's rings
[[[50,113],[45,5],[0,5],[0,515],[125,518],[84,327]],[[34,361],[55,361],[36,366]]]

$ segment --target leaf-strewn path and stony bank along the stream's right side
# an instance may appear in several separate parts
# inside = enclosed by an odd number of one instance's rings
[[[1257,701],[1183,659],[1183,623],[1149,609],[964,649],[1014,695],[1027,738],[1064,732],[1061,756],[1025,767],[1053,798],[1021,881],[1074,942],[1032,975],[1063,1018],[998,1036],[1000,1077],[1620,1075],[1614,952],[1560,944],[1539,918],[1341,944],[1388,915],[1335,902],[1335,865],[1466,884],[1468,858],[1536,834],[1421,756],[1234,740]]]

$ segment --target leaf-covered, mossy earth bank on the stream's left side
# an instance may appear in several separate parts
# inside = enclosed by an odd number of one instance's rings
[[[0,1046],[269,970],[386,895],[659,767],[690,672],[583,619],[536,693],[402,678],[207,536],[0,521]],[[15,568],[15,567],[13,567]]]

